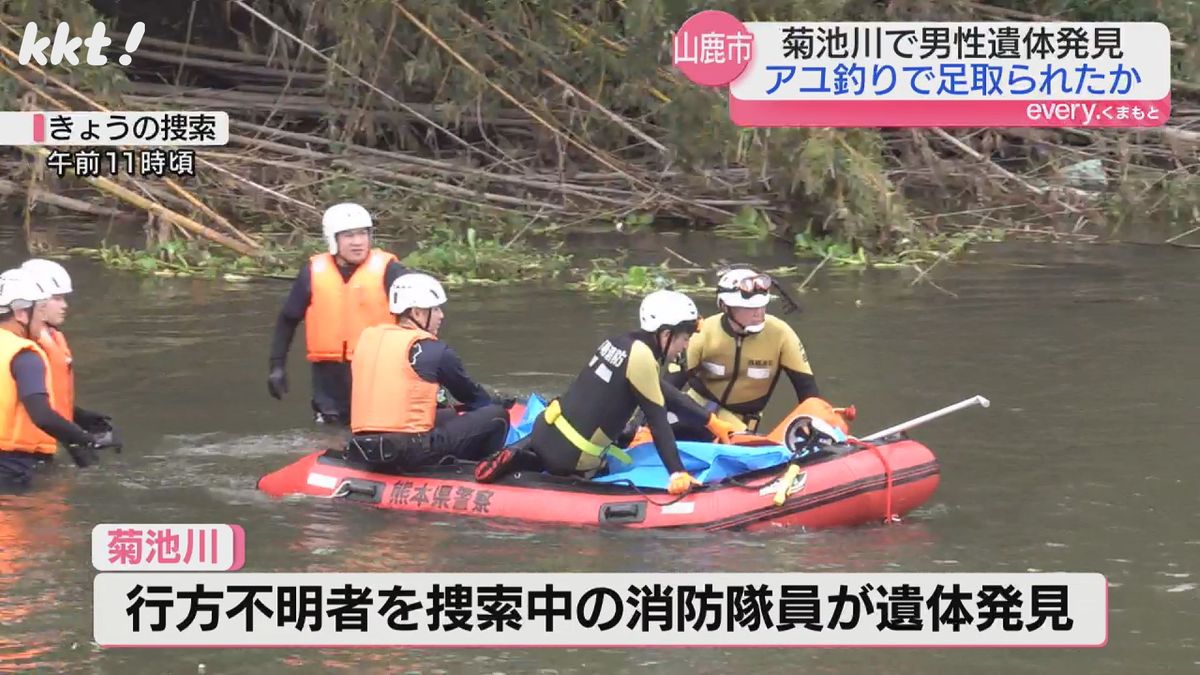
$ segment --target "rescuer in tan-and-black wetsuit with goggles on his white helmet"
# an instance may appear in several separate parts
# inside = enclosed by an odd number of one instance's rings
[[[667,375],[676,387],[738,431],[757,430],[779,376],[786,374],[797,404],[820,396],[800,338],[784,319],[767,313],[773,280],[752,269],[725,271],[716,286],[720,313],[708,317],[688,345],[685,366]],[[709,441],[696,425],[676,425],[679,438]]]

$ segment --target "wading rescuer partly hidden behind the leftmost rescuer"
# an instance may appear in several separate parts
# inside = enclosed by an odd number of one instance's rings
[[[66,297],[74,291],[71,286],[71,275],[59,263],[43,258],[25,261],[20,269],[30,274],[42,289],[50,294],[42,301],[44,328],[37,334],[36,342],[46,352],[50,368],[54,411],[73,420],[85,431],[109,432],[115,437],[112,417],[76,405],[74,357],[71,354],[66,335],[62,334],[67,311]]]

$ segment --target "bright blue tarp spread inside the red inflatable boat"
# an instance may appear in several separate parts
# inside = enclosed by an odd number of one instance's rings
[[[532,394],[526,404],[524,416],[516,426],[509,429],[505,444],[512,444],[533,431],[533,423],[546,408],[546,401],[538,394]],[[695,443],[682,441],[679,459],[684,468],[697,480],[712,483],[748,471],[779,466],[787,462],[792,454],[782,446],[722,446],[720,443]],[[614,456],[608,456],[608,473],[598,476],[598,483],[632,483],[638,488],[658,488],[666,490],[670,474],[653,442],[634,446],[625,450],[632,464],[623,464]]]

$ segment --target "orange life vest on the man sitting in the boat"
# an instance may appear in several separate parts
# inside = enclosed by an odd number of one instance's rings
[[[424,434],[433,429],[438,383],[426,382],[408,357],[418,340],[437,340],[418,328],[372,325],[350,362],[350,431]]]

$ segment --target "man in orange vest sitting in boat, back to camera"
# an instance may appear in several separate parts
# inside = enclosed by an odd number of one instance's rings
[[[353,394],[347,460],[403,472],[450,455],[479,460],[500,449],[509,414],[438,340],[445,291],[426,274],[404,274],[389,292],[392,322],[368,327],[350,362]],[[440,387],[466,412],[438,407]]]

